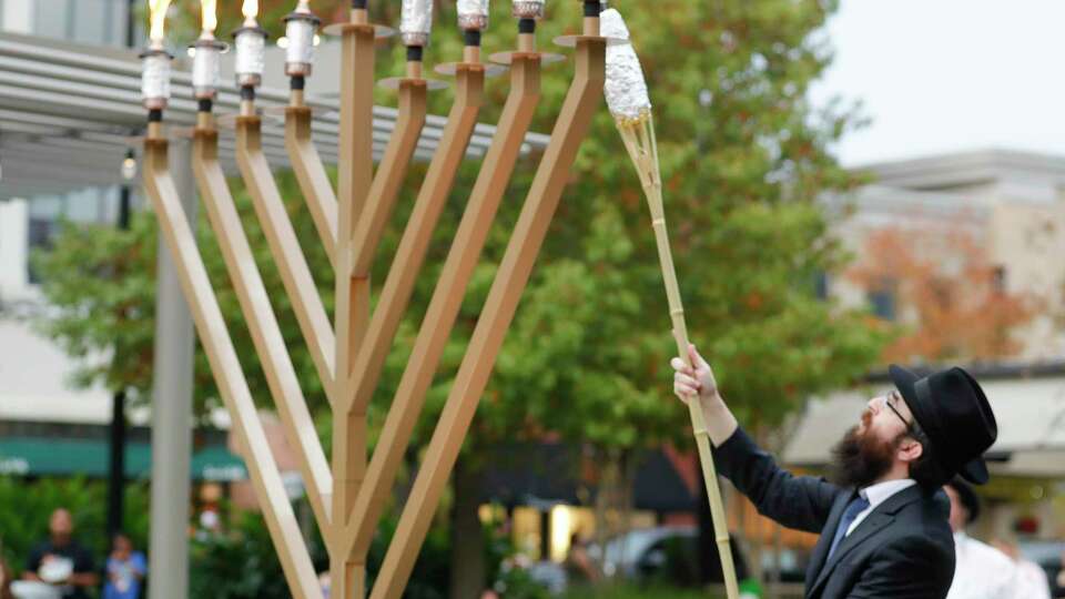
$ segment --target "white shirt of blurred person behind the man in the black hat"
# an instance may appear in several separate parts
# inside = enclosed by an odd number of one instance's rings
[[[1017,567],[1008,556],[965,532],[954,534],[954,581],[946,599],[1008,599]]]

